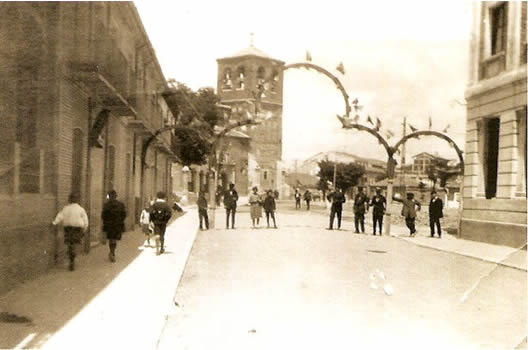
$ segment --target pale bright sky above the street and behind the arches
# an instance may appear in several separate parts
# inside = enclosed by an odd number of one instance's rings
[[[402,135],[406,117],[418,129],[450,125],[463,149],[471,3],[468,1],[136,1],[139,15],[166,79],[193,89],[216,88],[216,59],[250,45],[288,63],[312,63],[333,74],[382,132]],[[345,74],[335,70],[343,62]],[[323,151],[345,151],[386,160],[384,149],[365,132],[345,130],[341,93],[313,70],[284,73],[283,159],[306,159]],[[408,129],[409,130],[409,129]],[[409,132],[409,131],[408,131]],[[433,137],[407,143],[407,162],[420,152],[456,158]]]

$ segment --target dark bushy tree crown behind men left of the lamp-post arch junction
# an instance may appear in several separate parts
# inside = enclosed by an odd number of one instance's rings
[[[334,164],[336,165],[336,183],[337,187],[346,192],[350,187],[356,186],[359,179],[365,174],[365,168],[355,163],[334,163],[328,160],[322,160],[318,163],[319,184],[323,182],[333,182],[334,179]]]

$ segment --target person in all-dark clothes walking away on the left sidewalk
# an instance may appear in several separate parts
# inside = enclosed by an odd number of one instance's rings
[[[116,191],[108,192],[108,201],[103,206],[101,219],[103,219],[103,231],[106,232],[106,238],[108,238],[110,248],[108,259],[111,262],[115,262],[117,241],[121,239],[121,235],[125,231],[125,218],[125,205],[117,200]]]

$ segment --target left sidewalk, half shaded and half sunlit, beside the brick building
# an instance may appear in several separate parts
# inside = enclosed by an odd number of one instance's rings
[[[197,233],[196,209],[184,210],[160,256],[140,230],[126,232],[116,263],[100,245],[78,255],[75,271],[61,264],[1,296],[0,312],[32,322],[0,323],[0,348],[155,348]]]

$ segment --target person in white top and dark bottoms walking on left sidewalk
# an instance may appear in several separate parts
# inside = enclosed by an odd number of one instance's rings
[[[68,197],[68,204],[57,214],[53,225],[62,224],[64,229],[64,244],[68,245],[69,269],[75,270],[75,244],[80,244],[83,231],[88,229],[88,215],[78,204],[79,196],[75,193]]]

